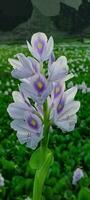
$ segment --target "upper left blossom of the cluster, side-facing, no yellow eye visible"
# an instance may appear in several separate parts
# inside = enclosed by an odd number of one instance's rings
[[[30,78],[40,71],[40,64],[37,60],[31,57],[26,57],[24,54],[17,54],[17,59],[9,58],[10,64],[13,66],[12,76],[17,79]]]

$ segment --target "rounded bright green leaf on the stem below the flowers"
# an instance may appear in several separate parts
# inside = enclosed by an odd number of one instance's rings
[[[44,163],[47,154],[50,153],[49,149],[38,148],[30,158],[30,167],[32,169],[39,169]]]

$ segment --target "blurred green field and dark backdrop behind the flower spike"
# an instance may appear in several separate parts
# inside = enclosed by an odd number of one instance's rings
[[[76,96],[81,107],[75,130],[67,134],[53,127],[50,133],[49,147],[55,162],[45,182],[43,199],[77,200],[81,188],[90,188],[89,8],[87,0],[83,0],[78,9],[61,3],[57,15],[46,16],[30,0],[0,3],[0,173],[5,179],[4,187],[0,187],[0,200],[25,200],[32,196],[35,173],[29,164],[32,150],[18,142],[7,113],[12,91],[18,90],[19,83],[11,77],[8,58],[21,52],[30,55],[25,40],[30,40],[37,31],[53,35],[56,58],[67,57],[70,71],[75,75],[67,82],[67,88],[75,84],[83,86]],[[85,177],[73,186],[73,172],[77,167],[83,169]]]

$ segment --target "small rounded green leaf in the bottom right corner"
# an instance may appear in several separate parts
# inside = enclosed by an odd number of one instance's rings
[[[90,190],[82,188],[79,192],[78,200],[90,200]]]

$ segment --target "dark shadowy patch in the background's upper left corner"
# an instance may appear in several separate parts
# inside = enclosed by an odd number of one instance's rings
[[[12,30],[31,17],[33,5],[30,0],[1,0],[0,30]]]

